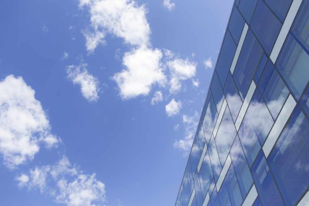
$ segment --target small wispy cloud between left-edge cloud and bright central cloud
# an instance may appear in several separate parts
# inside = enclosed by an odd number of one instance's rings
[[[96,77],[89,74],[86,69],[87,64],[81,64],[78,66],[69,65],[66,67],[66,73],[68,78],[73,81],[73,84],[79,84],[83,96],[89,101],[97,101],[99,99],[98,92],[99,81]]]

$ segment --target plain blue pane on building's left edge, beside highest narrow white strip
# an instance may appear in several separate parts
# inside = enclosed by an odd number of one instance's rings
[[[236,51],[236,44],[234,43],[234,40],[230,32],[226,31],[226,35],[224,38],[224,42],[222,44],[222,49],[216,66],[216,70],[218,72],[221,85],[224,85],[227,73],[229,72],[232,61],[234,59],[235,51]]]

